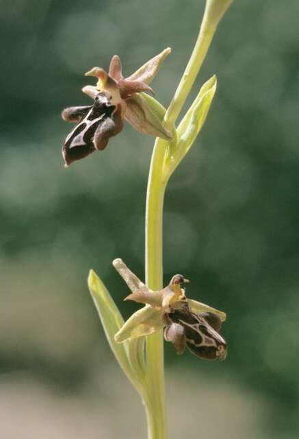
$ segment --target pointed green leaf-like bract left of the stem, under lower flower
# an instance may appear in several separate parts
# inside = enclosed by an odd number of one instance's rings
[[[124,319],[101,278],[93,270],[90,270],[88,276],[88,287],[109,346],[122,370],[140,392],[144,379],[144,337],[122,344],[116,343],[114,335],[122,328]]]

